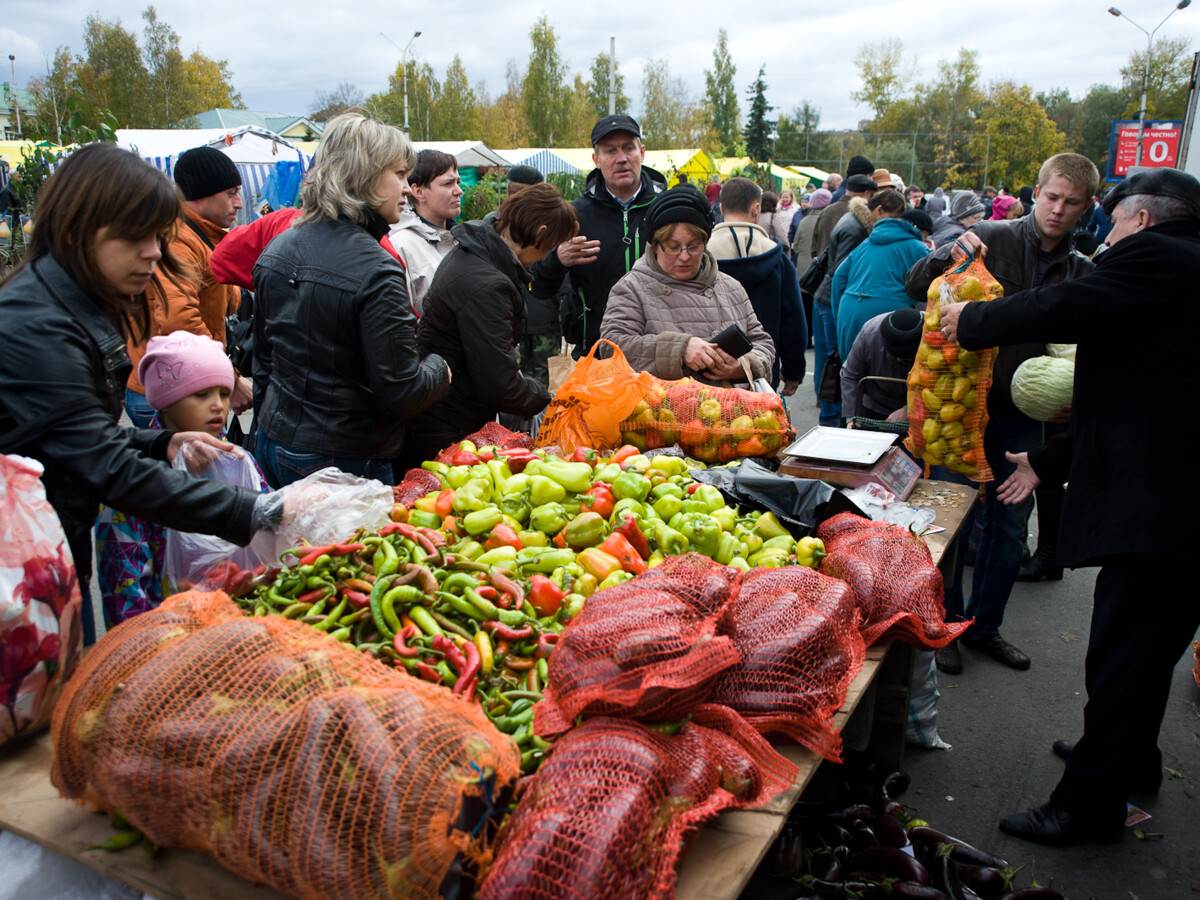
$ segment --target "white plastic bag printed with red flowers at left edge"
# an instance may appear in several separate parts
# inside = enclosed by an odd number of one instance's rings
[[[50,721],[83,650],[79,580],[42,472],[0,455],[0,744]]]

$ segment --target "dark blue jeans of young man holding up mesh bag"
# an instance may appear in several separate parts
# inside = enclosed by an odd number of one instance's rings
[[[1025,546],[1025,521],[1030,515],[1033,496],[1021,503],[1001,503],[996,497],[1008,476],[1016,472],[1016,464],[1004,457],[1004,452],[1024,452],[1042,444],[1042,424],[1021,419],[992,419],[983,437],[984,456],[991,467],[992,480],[984,485],[983,535],[976,553],[974,572],[971,578],[971,599],[964,611],[973,618],[970,636],[974,640],[1000,634],[1004,620],[1008,595],[1013,593],[1016,574],[1021,568],[1021,548]],[[960,593],[961,596],[961,593]],[[952,613],[947,596],[947,612]]]

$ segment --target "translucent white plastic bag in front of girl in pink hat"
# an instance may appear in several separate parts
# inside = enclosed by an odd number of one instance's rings
[[[185,444],[175,454],[170,467],[188,472],[188,456],[187,444]],[[217,454],[216,460],[203,473],[198,475],[193,473],[192,478],[206,478],[211,481],[245,487],[256,493],[262,490],[258,468],[246,454]],[[226,587],[227,576],[230,574],[227,563],[233,563],[239,569],[253,569],[262,562],[263,558],[253,546],[239,547],[236,544],[230,544],[211,534],[167,529],[163,574],[174,590],[187,590],[202,586],[210,590],[221,589]]]

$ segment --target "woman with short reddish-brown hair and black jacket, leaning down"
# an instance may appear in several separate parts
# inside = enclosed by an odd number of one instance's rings
[[[575,209],[553,185],[532,185],[500,204],[492,224],[452,229],[450,251],[425,298],[418,326],[421,353],[444,356],[454,372],[445,400],[413,422],[409,467],[432,460],[497,413],[532,416],[550,392],[521,376],[516,347],[524,335],[528,268],[575,236]]]

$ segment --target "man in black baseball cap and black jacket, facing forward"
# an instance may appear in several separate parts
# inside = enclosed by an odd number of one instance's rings
[[[608,292],[642,256],[650,241],[646,210],[667,188],[666,179],[642,166],[646,148],[632,116],[606,115],[592,128],[592,161],[583,196],[575,200],[580,233],[560,244],[532,269],[535,298],[553,296],[570,276],[563,304],[563,336],[575,356],[600,336]]]

